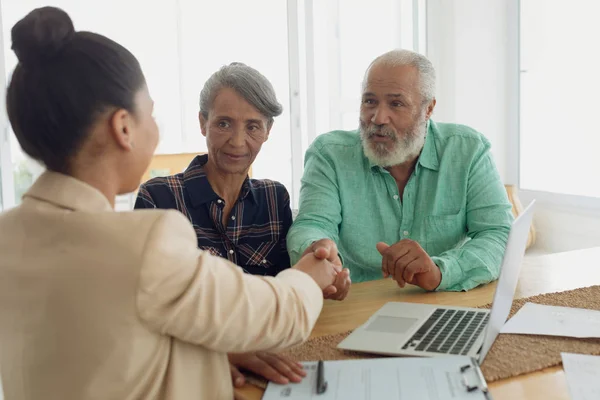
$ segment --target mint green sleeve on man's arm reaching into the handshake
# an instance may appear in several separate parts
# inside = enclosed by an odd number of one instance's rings
[[[316,240],[328,238],[337,244],[341,222],[337,174],[332,163],[321,153],[319,143],[315,142],[306,151],[300,209],[287,236],[292,265]]]

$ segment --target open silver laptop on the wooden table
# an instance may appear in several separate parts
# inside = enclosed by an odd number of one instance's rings
[[[391,302],[338,348],[384,355],[463,355],[483,362],[510,313],[534,204],[512,224],[491,310]]]

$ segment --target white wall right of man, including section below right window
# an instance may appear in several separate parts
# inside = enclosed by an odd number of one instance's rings
[[[518,181],[517,7],[517,0],[427,3],[427,53],[438,73],[434,119],[482,132],[504,183]],[[600,246],[600,199],[527,191],[519,197],[524,205],[538,201],[534,252]]]

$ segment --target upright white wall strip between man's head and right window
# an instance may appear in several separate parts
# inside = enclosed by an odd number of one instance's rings
[[[437,76],[434,120],[473,127],[492,143],[508,179],[509,68],[506,0],[429,0],[427,53]]]

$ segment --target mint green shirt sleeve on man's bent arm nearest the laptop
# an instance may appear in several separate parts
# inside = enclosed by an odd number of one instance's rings
[[[513,215],[489,145],[469,170],[466,207],[470,240],[432,257],[442,272],[437,290],[469,290],[500,274]]]

